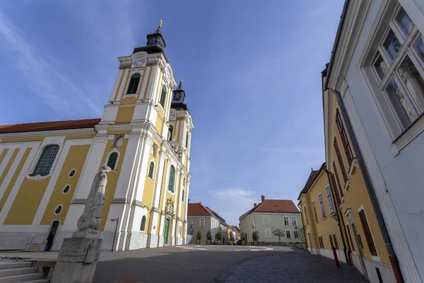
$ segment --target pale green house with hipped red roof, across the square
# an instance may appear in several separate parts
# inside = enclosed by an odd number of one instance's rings
[[[265,200],[254,204],[252,209],[240,216],[240,233],[246,234],[247,242],[252,241],[252,233],[258,231],[259,242],[296,243],[302,242],[299,233],[302,229],[302,218],[298,208],[291,200]],[[273,231],[280,231],[275,236]]]

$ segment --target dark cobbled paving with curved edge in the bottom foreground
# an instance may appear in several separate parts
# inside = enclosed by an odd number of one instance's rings
[[[369,283],[355,267],[341,264],[303,250],[294,253],[266,255],[237,262],[212,283]]]

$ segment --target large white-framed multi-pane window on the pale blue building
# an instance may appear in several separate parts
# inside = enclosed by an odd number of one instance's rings
[[[374,74],[374,79],[369,78],[372,87],[378,88],[377,103],[395,140],[424,113],[424,37],[399,4],[388,25],[380,28],[386,28],[384,37],[375,38],[378,46],[367,65]]]

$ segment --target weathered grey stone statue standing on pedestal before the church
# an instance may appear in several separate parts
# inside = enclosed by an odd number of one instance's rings
[[[73,232],[73,238],[84,238],[88,234],[95,234],[102,222],[103,206],[105,205],[105,187],[107,183],[106,173],[110,172],[109,166],[102,166],[91,185],[90,192],[84,207],[83,215],[80,216],[76,226],[78,229]]]

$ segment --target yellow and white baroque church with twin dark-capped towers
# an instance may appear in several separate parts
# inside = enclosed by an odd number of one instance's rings
[[[187,237],[194,125],[174,79],[161,27],[119,57],[100,119],[0,126],[0,249],[76,230],[95,174],[110,166],[103,250],[182,245]],[[115,233],[116,229],[116,233]]]

